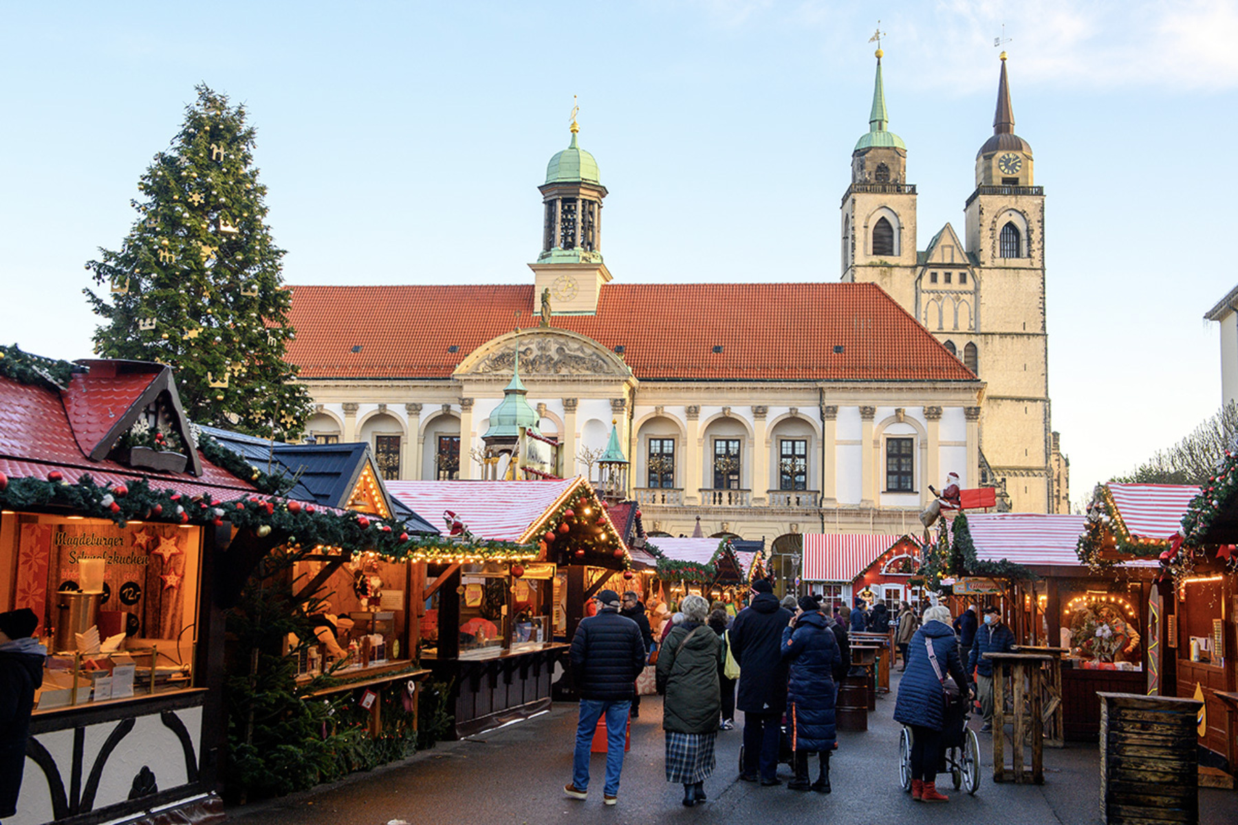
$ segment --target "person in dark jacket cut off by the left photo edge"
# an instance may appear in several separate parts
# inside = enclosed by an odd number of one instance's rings
[[[17,813],[35,690],[43,684],[47,648],[31,638],[38,617],[28,607],[0,613],[0,818]]]

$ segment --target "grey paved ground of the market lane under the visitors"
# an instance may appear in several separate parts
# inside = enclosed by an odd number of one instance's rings
[[[1041,825],[1099,823],[1097,747],[1045,750],[1042,787],[994,784],[988,737],[980,737],[982,784],[976,797],[946,784],[948,804],[912,803],[898,784],[900,727],[890,719],[894,699],[879,699],[865,733],[841,733],[833,758],[833,793],[794,793],[737,780],[740,732],[718,735],[718,769],[706,780],[709,801],[683,808],[682,785],[664,773],[661,699],[646,696],[633,722],[619,804],[602,805],[604,759],[593,757],[588,801],[563,797],[571,777],[574,705],[556,705],[537,719],[459,742],[443,742],[394,766],[267,803],[229,810],[234,825],[410,825],[472,823],[524,825],[723,823],[779,825],[844,823],[985,823]],[[780,776],[785,778],[786,767]],[[1200,790],[1205,825],[1238,823],[1238,792]]]

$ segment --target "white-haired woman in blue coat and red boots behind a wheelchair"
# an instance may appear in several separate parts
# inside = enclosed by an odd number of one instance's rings
[[[894,705],[894,721],[911,729],[911,798],[916,801],[950,801],[937,790],[947,674],[963,695],[972,695],[950,620],[948,607],[925,611],[924,623],[907,643],[906,672]]]

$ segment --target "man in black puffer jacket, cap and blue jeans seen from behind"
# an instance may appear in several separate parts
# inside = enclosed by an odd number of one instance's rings
[[[619,594],[603,590],[594,600],[598,613],[582,618],[572,637],[572,673],[581,694],[576,726],[572,782],[563,787],[572,799],[586,799],[589,788],[589,750],[598,719],[607,720],[607,780],[603,801],[619,801],[619,774],[628,735],[628,711],[636,694],[636,677],[645,667],[645,641],[636,622],[619,615]]]

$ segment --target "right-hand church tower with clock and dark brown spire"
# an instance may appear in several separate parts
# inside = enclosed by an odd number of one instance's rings
[[[1045,329],[1045,192],[1034,186],[1031,146],[1014,132],[1002,53],[993,136],[976,156],[967,199],[967,252],[974,265],[973,370],[988,385],[980,453],[1015,512],[1051,512],[1054,439]],[[972,365],[969,365],[972,366]]]

